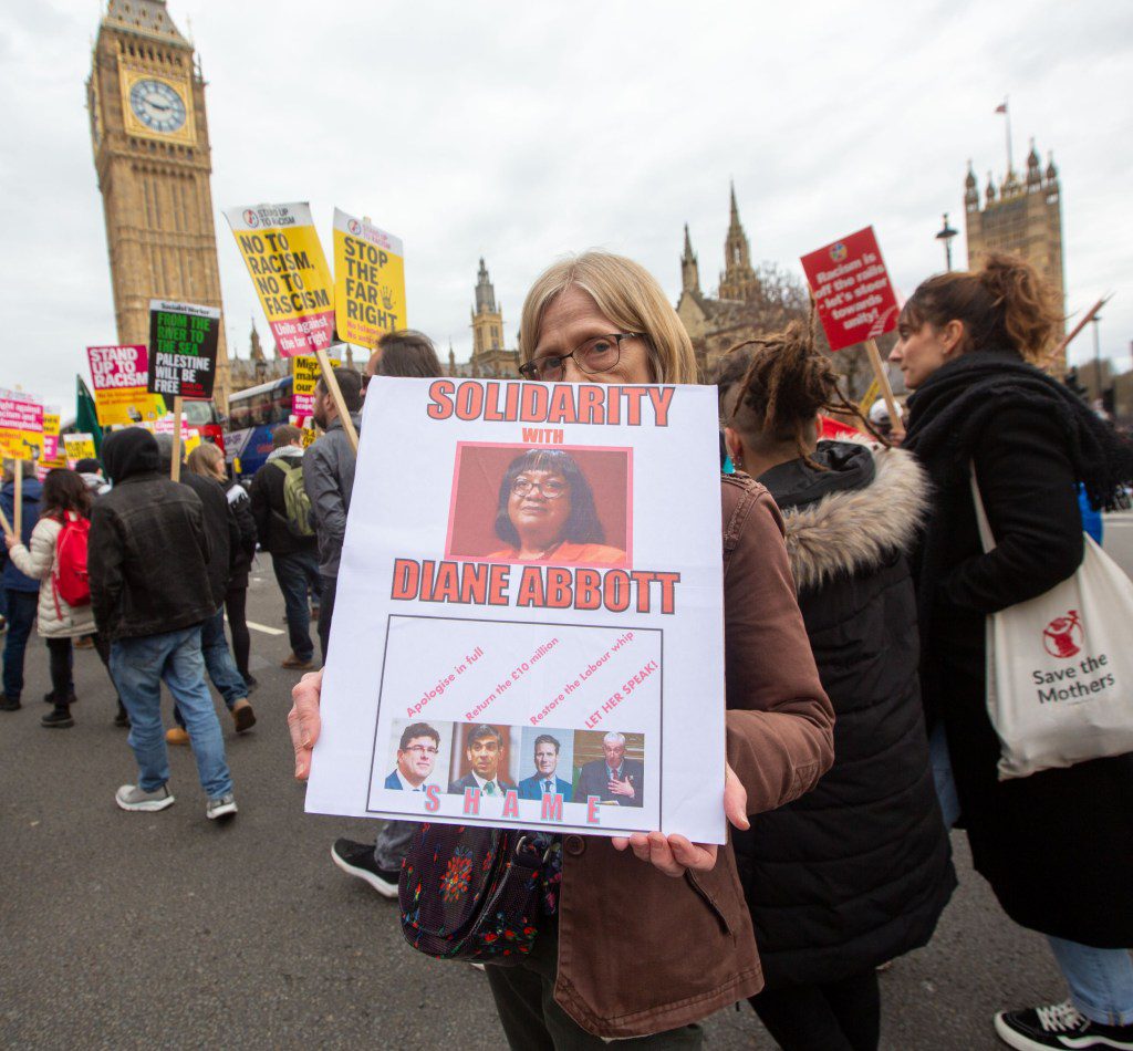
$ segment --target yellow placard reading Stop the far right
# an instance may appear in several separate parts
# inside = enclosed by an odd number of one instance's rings
[[[334,210],[334,314],[339,339],[373,350],[384,332],[406,327],[401,239]]]

